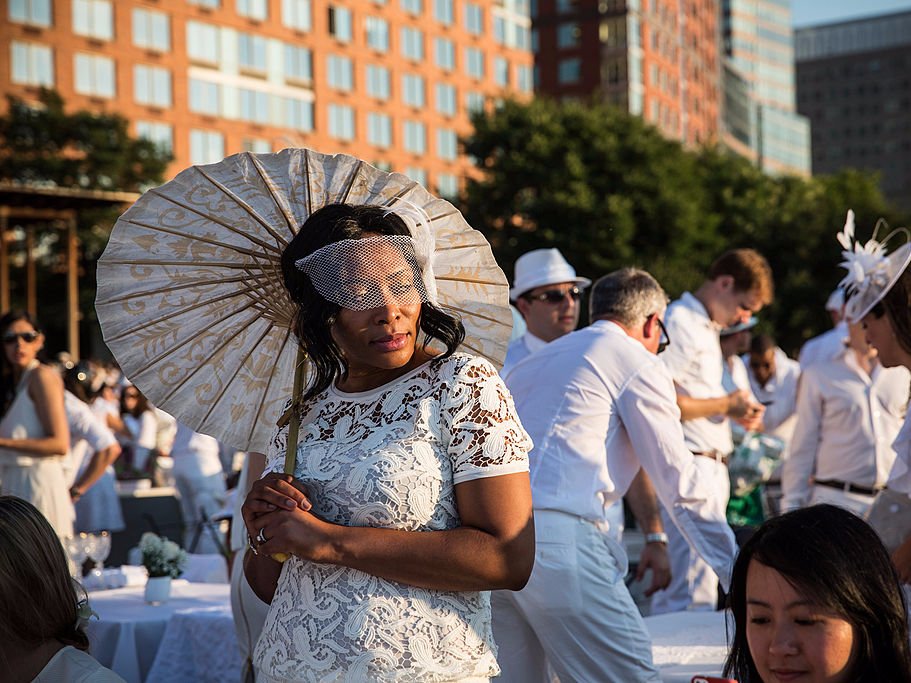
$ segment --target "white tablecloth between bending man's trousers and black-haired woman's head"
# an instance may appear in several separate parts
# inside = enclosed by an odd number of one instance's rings
[[[645,625],[664,683],[690,683],[696,675],[721,676],[728,654],[727,632],[734,633],[729,612],[673,612],[646,617]]]

